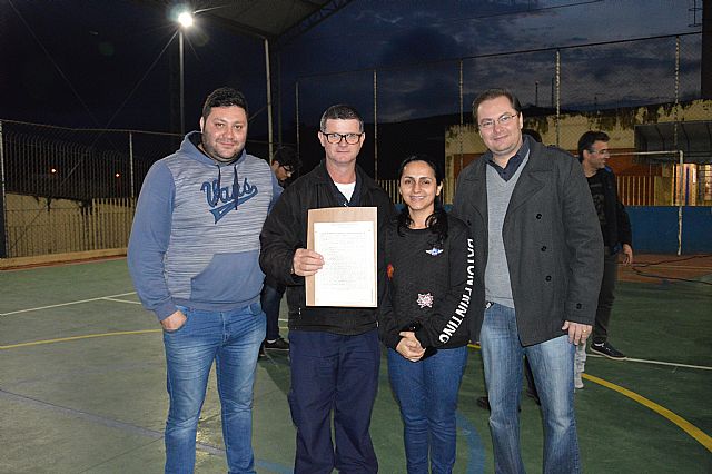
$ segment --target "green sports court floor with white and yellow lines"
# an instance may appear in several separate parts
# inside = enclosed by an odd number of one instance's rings
[[[584,472],[712,473],[712,256],[637,260],[621,271],[611,328],[630,358],[590,356],[575,395]],[[290,473],[289,362],[273,353],[257,372],[257,471]],[[493,472],[483,394],[473,347],[457,473]],[[125,259],[0,271],[0,473],[162,472],[166,412],[161,334]],[[527,471],[541,472],[540,412],[524,396],[521,424]],[[385,362],[372,435],[380,472],[405,472]],[[214,379],[198,443],[196,471],[225,472]]]

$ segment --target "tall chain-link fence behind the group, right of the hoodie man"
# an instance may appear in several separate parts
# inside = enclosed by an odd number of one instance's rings
[[[425,152],[446,169],[449,201],[458,172],[485,151],[472,102],[506,87],[524,107],[524,126],[547,145],[576,154],[583,132],[606,131],[625,204],[679,205],[686,186],[679,181],[692,172],[698,181],[683,204],[711,205],[712,117],[709,102],[700,105],[701,56],[702,34],[689,33],[303,77],[295,83],[296,139],[308,170],[324,155],[316,140],[322,111],[347,101],[367,122],[359,164],[394,200],[399,162]],[[647,151],[674,158],[636,155]]]

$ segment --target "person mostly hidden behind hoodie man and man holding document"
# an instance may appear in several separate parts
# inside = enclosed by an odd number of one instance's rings
[[[301,160],[291,147],[280,147],[271,159],[271,170],[284,188],[287,181],[299,171]],[[263,287],[261,305],[267,316],[267,336],[259,348],[259,355],[265,356],[267,350],[289,350],[289,343],[279,335],[279,306],[281,296],[286,286],[278,283],[270,276],[265,277],[265,286]]]

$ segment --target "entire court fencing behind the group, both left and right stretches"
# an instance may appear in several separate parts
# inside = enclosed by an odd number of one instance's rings
[[[624,204],[711,205],[712,106],[702,100],[701,57],[702,34],[691,33],[303,77],[291,105],[281,93],[296,125],[278,136],[293,134],[306,172],[324,156],[322,112],[347,101],[366,121],[359,164],[395,201],[399,162],[425,152],[446,169],[449,203],[459,170],[485,151],[471,103],[507,87],[525,127],[546,144],[575,152],[584,131],[606,131]],[[0,257],[125,247],[148,168],[180,139],[0,120]],[[269,144],[250,140],[248,149],[267,158]]]

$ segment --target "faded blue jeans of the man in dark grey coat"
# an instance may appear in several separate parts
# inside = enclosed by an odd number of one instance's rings
[[[479,333],[490,397],[490,431],[497,473],[524,473],[520,450],[522,357],[532,366],[544,418],[544,473],[578,473],[581,461],[574,415],[574,349],[563,335],[522,347],[513,308],[485,310]]]

